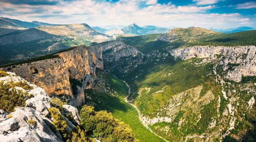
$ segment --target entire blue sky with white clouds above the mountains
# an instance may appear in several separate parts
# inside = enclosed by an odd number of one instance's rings
[[[256,0],[0,0],[0,17],[100,27],[256,27]]]

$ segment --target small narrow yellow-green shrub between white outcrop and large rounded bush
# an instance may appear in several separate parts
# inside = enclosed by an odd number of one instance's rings
[[[58,109],[51,107],[49,108],[49,112],[51,113],[52,119],[54,119],[52,124],[55,126],[56,130],[64,133],[67,128],[67,122],[63,119]]]

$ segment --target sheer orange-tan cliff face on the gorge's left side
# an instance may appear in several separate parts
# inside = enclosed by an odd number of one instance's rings
[[[91,88],[96,68],[103,68],[102,48],[78,46],[57,53],[59,57],[3,68],[46,90],[48,94],[70,96],[70,104],[84,102],[83,89]]]

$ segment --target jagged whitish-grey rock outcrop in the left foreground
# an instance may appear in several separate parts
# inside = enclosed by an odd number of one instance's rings
[[[9,72],[8,72],[9,73]],[[10,80],[11,79],[11,80]],[[2,77],[0,80],[9,82],[13,80],[26,82],[34,89],[27,90],[34,95],[26,101],[25,107],[16,107],[14,112],[6,113],[0,110],[0,138],[1,142],[62,142],[61,134],[56,131],[53,120],[49,118],[48,109],[51,107],[50,97],[46,91],[36,85],[30,84],[13,73]],[[65,105],[65,107],[72,107]],[[72,107],[73,108],[73,107]],[[73,108],[77,112],[76,108]],[[78,117],[79,115],[73,115]],[[64,115],[68,129],[72,130],[74,125]],[[33,123],[29,123],[33,120]]]

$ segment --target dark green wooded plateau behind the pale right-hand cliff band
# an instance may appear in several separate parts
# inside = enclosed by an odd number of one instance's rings
[[[206,36],[195,36],[193,40],[190,39],[192,33],[190,33],[189,29],[185,29],[182,34],[184,35],[181,36],[182,40],[177,40],[174,42],[155,41],[157,37],[162,36],[163,34],[121,37],[121,41],[125,44],[134,46],[143,53],[161,50],[167,46],[174,46],[173,48],[177,48],[182,45],[256,45],[256,30],[231,34],[220,34],[213,32]]]

